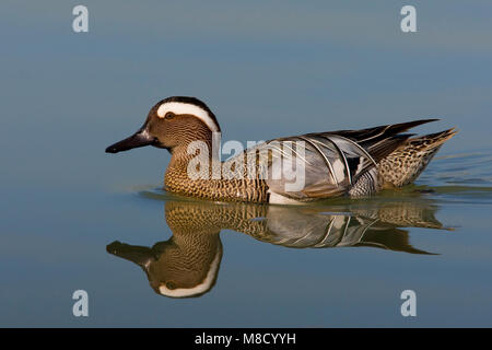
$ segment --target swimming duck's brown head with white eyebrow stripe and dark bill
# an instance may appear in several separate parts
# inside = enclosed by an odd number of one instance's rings
[[[173,152],[196,140],[208,141],[221,128],[212,110],[200,100],[173,96],[151,108],[143,126],[132,136],[109,145],[107,153],[153,145]]]

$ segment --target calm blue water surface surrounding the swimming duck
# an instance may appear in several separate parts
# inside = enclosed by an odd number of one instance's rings
[[[75,4],[0,4],[0,326],[492,325],[489,1],[412,1],[414,34],[400,1],[91,0],[86,34]],[[159,189],[165,151],[104,153],[169,95],[206,101],[224,141],[423,117],[442,121],[417,131],[460,132],[415,186],[371,200],[184,201]],[[179,266],[194,252],[210,258]],[[150,285],[210,266],[199,298]]]

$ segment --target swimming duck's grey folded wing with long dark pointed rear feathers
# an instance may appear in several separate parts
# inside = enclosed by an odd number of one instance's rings
[[[336,197],[411,136],[400,132],[432,120],[280,138],[246,150],[246,155],[256,159],[249,164],[271,192],[296,200]]]

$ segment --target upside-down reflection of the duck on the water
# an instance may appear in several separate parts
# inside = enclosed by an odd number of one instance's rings
[[[109,244],[108,253],[139,265],[152,289],[171,298],[200,296],[215,283],[222,259],[220,232],[245,233],[290,248],[370,246],[432,254],[409,243],[406,228],[449,230],[435,219],[437,207],[397,201],[372,207],[280,207],[167,200],[165,219],[173,236],[151,248]]]

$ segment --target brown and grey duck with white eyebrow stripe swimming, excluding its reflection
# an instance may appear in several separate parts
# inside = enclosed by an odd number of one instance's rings
[[[164,189],[184,196],[261,203],[358,198],[402,187],[422,173],[457,131],[402,132],[434,120],[279,138],[221,162],[214,151],[221,128],[212,110],[196,97],[173,96],[154,105],[134,135],[106,152],[144,145],[168,150]]]

